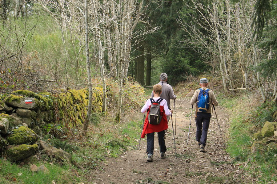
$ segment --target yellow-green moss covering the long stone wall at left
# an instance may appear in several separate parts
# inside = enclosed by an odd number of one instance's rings
[[[32,118],[36,126],[42,128],[47,123],[51,124],[60,124],[68,125],[70,127],[82,125],[85,121],[87,114],[88,98],[89,91],[88,89],[82,90],[72,90],[68,89],[63,90],[63,93],[50,94],[47,92],[43,93],[34,93],[28,90],[17,90],[13,93],[22,95],[20,97],[16,95],[10,95],[7,97],[9,100],[18,100],[21,103],[26,99],[25,97],[33,98],[33,102],[37,104],[36,108],[26,107],[17,107],[16,103],[10,106],[16,106],[17,108],[30,109],[28,114],[22,115]],[[29,98],[29,99],[30,99]],[[102,112],[102,98],[103,98],[103,89],[101,87],[95,87],[93,90],[92,98],[92,111],[95,113]],[[28,98],[27,98],[28,99]],[[25,102],[24,102],[25,104]],[[5,104],[6,105],[6,104]],[[21,109],[17,109],[17,112],[20,113]],[[22,110],[24,111],[24,110]],[[21,117],[22,119],[22,117]],[[44,123],[41,123],[44,122]],[[46,123],[45,123],[46,122]],[[20,124],[21,125],[21,124]],[[35,128],[35,127],[34,127]]]

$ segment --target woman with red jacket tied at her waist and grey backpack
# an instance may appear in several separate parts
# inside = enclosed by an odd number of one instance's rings
[[[147,111],[147,116],[144,121],[143,131],[141,138],[144,138],[147,135],[147,161],[153,161],[153,151],[154,151],[154,134],[158,132],[159,135],[159,146],[161,158],[165,158],[165,152],[167,151],[167,147],[165,145],[164,140],[164,132],[168,128],[167,126],[167,116],[171,116],[173,113],[172,110],[168,109],[167,101],[165,99],[160,98],[162,93],[162,86],[156,84],[153,86],[153,94],[154,97],[148,99],[143,108],[141,109],[142,113]],[[152,107],[151,107],[152,106]],[[155,109],[155,107],[157,107]],[[156,114],[155,114],[155,112]],[[152,122],[152,123],[151,123]],[[153,122],[158,123],[153,124]]]

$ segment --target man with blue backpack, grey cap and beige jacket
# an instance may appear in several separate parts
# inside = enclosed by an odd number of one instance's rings
[[[196,103],[195,122],[196,122],[196,141],[201,152],[205,152],[207,141],[207,132],[211,120],[211,105],[218,105],[215,94],[208,89],[208,79],[200,79],[199,85],[201,88],[195,90],[191,98],[191,105]]]

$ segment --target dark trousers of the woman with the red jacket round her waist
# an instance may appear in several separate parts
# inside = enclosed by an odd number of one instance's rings
[[[154,152],[154,135],[155,132],[153,133],[147,133],[147,149],[146,149],[146,153],[149,154],[153,154]],[[165,141],[164,141],[164,130],[161,132],[158,132],[158,136],[159,136],[159,145],[160,145],[160,152],[164,153],[167,151],[167,147],[165,145]]]

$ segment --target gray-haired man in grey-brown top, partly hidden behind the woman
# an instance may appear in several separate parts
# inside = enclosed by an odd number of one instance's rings
[[[160,98],[163,98],[167,101],[168,109],[170,109],[170,99],[174,100],[177,98],[177,96],[174,94],[172,87],[169,84],[167,84],[166,73],[161,73],[160,82],[158,84],[162,86],[162,94],[160,95]],[[154,97],[154,94],[152,91],[151,98],[153,97]],[[170,116],[167,116],[167,123],[169,122],[169,119],[170,119]],[[165,133],[167,133],[167,130],[165,131]]]

